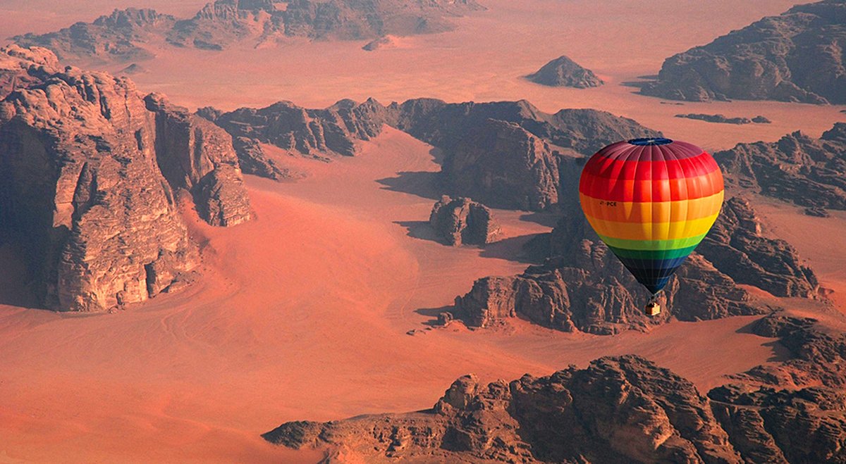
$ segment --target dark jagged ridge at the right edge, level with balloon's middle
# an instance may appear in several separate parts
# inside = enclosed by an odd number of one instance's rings
[[[846,210],[846,123],[820,139],[794,132],[777,142],[739,144],[714,154],[729,185],[797,205]]]

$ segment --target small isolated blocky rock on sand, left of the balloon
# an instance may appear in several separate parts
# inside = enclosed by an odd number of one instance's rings
[[[490,208],[464,197],[443,196],[432,206],[429,225],[453,247],[496,242],[503,234]]]

